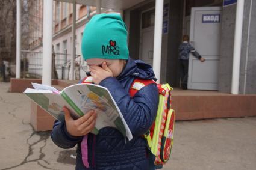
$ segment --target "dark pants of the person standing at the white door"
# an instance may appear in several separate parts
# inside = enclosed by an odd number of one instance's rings
[[[179,60],[181,88],[187,89],[187,77],[189,73],[189,60]]]

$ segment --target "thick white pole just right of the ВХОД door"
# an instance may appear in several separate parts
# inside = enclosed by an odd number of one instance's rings
[[[241,43],[243,31],[243,5],[244,0],[237,0],[236,10],[236,27],[234,35],[234,50],[233,50],[233,71],[231,93],[239,93],[239,74],[240,74],[240,59],[241,59]]]

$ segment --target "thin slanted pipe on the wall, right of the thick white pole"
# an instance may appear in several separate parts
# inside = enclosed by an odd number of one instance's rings
[[[247,62],[248,62],[248,52],[249,52],[249,40],[250,40],[251,15],[252,15],[252,0],[251,0],[251,4],[250,4],[249,23],[248,23],[248,31],[247,31],[246,56],[245,56],[245,78],[243,79],[243,94],[245,94],[245,90],[246,90],[246,76],[247,76]]]

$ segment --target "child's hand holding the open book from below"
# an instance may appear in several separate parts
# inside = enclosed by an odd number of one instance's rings
[[[89,111],[83,117],[73,120],[70,115],[69,109],[63,107],[65,112],[65,121],[67,126],[67,132],[72,136],[84,136],[95,127],[96,111]]]

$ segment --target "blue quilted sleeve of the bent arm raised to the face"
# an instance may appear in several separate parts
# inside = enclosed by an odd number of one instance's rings
[[[159,100],[155,83],[143,87],[133,98],[114,77],[102,80],[99,85],[108,88],[133,136],[143,135],[151,127]]]

